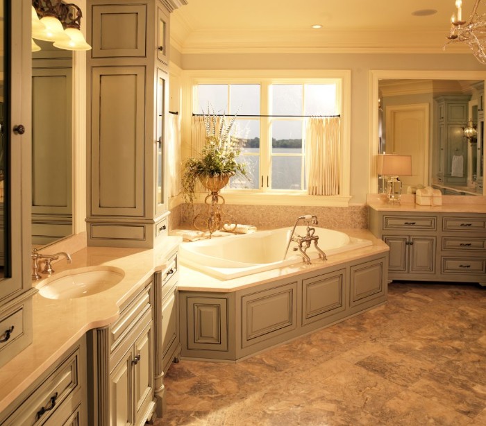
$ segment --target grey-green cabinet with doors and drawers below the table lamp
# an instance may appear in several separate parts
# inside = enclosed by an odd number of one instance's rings
[[[390,248],[390,280],[486,284],[486,214],[370,207],[369,229]]]

